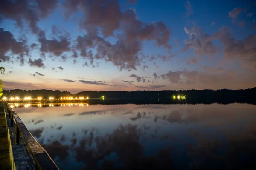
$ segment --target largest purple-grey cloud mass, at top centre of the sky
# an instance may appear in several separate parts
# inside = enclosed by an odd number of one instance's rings
[[[142,58],[139,53],[143,40],[155,41],[157,46],[171,49],[168,44],[171,32],[163,22],[143,23],[138,20],[134,8],[121,11],[117,0],[102,3],[83,3],[80,0],[73,3],[72,0],[66,0],[64,7],[67,18],[77,11],[86,16],[81,18],[80,27],[87,34],[76,38],[74,49],[80,52],[81,57],[90,60],[91,65],[93,60],[102,59],[112,62],[120,71],[136,70],[141,65]],[[123,34],[111,44],[98,36],[99,30],[105,37],[112,36],[116,30],[122,30]],[[88,48],[95,48],[96,53],[93,55]]]

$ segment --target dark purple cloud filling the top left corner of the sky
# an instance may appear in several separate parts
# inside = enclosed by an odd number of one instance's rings
[[[23,22],[26,22],[32,32],[37,34],[40,30],[38,21],[52,14],[57,3],[58,0],[1,0],[0,16],[15,20],[20,28],[23,28]]]

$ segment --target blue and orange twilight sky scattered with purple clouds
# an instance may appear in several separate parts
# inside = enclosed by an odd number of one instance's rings
[[[3,89],[256,87],[256,1],[1,0]]]

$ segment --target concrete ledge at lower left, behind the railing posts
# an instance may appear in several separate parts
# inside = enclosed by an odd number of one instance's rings
[[[27,150],[26,144],[20,136],[20,144],[15,144],[15,123],[11,127],[11,121],[6,114],[6,130],[9,141],[9,150],[10,150],[10,161],[12,165],[12,170],[35,170],[35,162],[32,159],[29,151]]]

